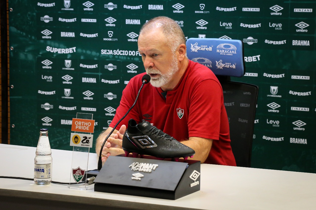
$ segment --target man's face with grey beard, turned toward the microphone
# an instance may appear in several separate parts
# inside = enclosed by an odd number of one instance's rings
[[[178,59],[167,46],[166,38],[159,29],[139,35],[138,51],[154,87],[166,85],[179,70]]]

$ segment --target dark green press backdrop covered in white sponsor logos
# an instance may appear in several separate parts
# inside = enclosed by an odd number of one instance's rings
[[[9,0],[10,143],[68,149],[71,120],[92,113],[94,141],[122,90],[144,72],[140,27],[173,18],[186,38],[244,42],[259,86],[252,167],[316,172],[315,1]],[[94,152],[94,149],[92,149]]]

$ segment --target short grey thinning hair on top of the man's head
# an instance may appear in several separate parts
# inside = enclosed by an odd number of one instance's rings
[[[166,44],[172,52],[175,52],[180,44],[185,44],[185,36],[179,24],[176,23],[175,20],[165,16],[159,16],[149,20],[142,26],[139,34],[148,32],[156,27],[159,27],[165,35]]]

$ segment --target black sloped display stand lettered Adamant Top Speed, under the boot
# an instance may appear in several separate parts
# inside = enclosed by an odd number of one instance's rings
[[[140,165],[145,171],[138,170]],[[200,190],[200,168],[197,160],[110,156],[94,180],[94,191],[176,200]]]

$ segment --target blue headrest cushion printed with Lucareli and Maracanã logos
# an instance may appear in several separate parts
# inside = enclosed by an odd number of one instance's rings
[[[242,42],[235,39],[189,38],[186,51],[191,61],[215,75],[242,77],[245,74]]]

